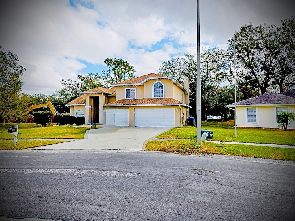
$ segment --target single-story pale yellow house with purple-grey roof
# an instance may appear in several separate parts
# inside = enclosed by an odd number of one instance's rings
[[[226,105],[234,108],[235,104]],[[295,90],[282,93],[270,92],[236,103],[236,124],[238,127],[278,128],[278,113],[295,113]],[[295,128],[295,122],[288,125]]]

